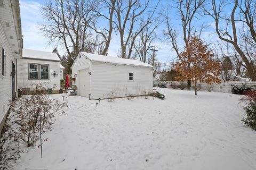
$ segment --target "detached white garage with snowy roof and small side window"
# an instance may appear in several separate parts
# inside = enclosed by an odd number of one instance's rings
[[[72,69],[79,96],[104,99],[153,90],[153,66],[137,60],[80,52]]]

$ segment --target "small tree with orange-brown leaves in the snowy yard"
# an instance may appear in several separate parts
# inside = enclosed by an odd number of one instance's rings
[[[190,57],[188,57],[190,56]],[[191,63],[188,68],[188,63]],[[174,64],[175,71],[180,73],[178,80],[185,81],[191,79],[195,84],[195,95],[197,95],[197,81],[208,84],[220,84],[221,66],[214,60],[214,53],[209,46],[203,43],[198,37],[192,37],[184,52],[181,52],[180,59]]]

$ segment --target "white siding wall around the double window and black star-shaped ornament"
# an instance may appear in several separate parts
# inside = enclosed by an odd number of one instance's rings
[[[18,83],[18,89],[21,88],[30,88],[33,90],[33,87],[31,84],[39,84],[39,83],[46,83],[47,88],[52,88],[56,86],[55,89],[60,89],[60,62],[55,61],[43,61],[43,60],[31,60],[31,59],[18,59],[17,61],[17,83]],[[29,79],[30,74],[30,64],[37,65],[37,72],[38,72],[38,79]],[[43,67],[42,67],[43,66]],[[46,69],[45,66],[48,66],[48,69]],[[31,70],[35,71],[35,70]],[[58,75],[56,77],[53,77],[51,75],[52,72],[57,72]],[[36,71],[35,71],[36,72]],[[41,79],[42,74],[47,74],[48,79]],[[43,77],[45,78],[45,77]]]

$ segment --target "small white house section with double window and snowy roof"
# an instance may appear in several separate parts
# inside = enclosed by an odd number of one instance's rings
[[[17,64],[18,89],[30,88],[43,84],[46,88],[60,89],[60,58],[56,53],[23,49],[22,58]]]

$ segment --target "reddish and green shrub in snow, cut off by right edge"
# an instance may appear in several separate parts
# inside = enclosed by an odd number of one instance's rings
[[[256,130],[256,91],[246,91],[242,101],[247,105],[244,107],[246,117],[242,121],[253,130]]]

